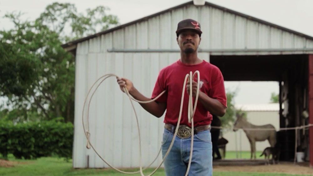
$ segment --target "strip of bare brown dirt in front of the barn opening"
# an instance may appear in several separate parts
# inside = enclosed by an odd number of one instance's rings
[[[313,168],[308,163],[294,165],[293,163],[280,163],[276,165],[261,166],[213,166],[214,171],[224,172],[265,172],[313,175]]]

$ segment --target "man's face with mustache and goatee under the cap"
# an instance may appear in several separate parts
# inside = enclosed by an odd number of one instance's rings
[[[199,47],[201,38],[194,30],[187,29],[182,31],[177,37],[179,48],[184,53],[193,53]]]

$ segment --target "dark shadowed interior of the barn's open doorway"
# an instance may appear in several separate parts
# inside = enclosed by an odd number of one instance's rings
[[[210,63],[220,68],[225,81],[279,82],[280,128],[309,124],[309,55],[212,55]],[[280,160],[294,160],[295,142],[297,151],[305,152],[309,158],[308,128],[297,130],[297,141],[294,129],[278,131],[277,142]]]

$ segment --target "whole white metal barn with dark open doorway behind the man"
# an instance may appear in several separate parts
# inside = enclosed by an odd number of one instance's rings
[[[85,147],[81,114],[89,88],[100,76],[115,73],[150,96],[158,72],[180,57],[175,31],[186,18],[201,23],[198,57],[218,66],[225,81],[279,82],[280,128],[313,123],[313,37],[212,3],[187,2],[62,45],[76,59],[74,168],[108,167]],[[101,84],[91,101],[90,140],[113,166],[139,167],[136,121],[115,81]],[[135,108],[142,132],[142,163],[148,165],[161,146],[163,117],[152,117],[138,103]],[[313,148],[313,128],[281,131],[282,160],[293,159],[295,134],[300,148]],[[160,162],[161,157],[151,167]]]

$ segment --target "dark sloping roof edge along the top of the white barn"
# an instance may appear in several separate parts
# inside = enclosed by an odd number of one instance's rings
[[[152,15],[149,15],[149,16],[146,16],[146,17],[143,17],[143,18],[140,18],[138,20],[135,20],[135,21],[132,21],[132,22],[129,22],[129,23],[126,23],[126,24],[122,24],[120,26],[117,26],[115,28],[110,28],[108,30],[105,30],[105,31],[102,31],[102,32],[99,32],[99,33],[95,33],[93,35],[89,35],[87,37],[84,37],[84,38],[80,38],[80,39],[77,39],[77,40],[74,40],[74,41],[71,41],[71,42],[68,42],[68,43],[65,43],[62,45],[63,48],[65,48],[66,50],[68,51],[71,51],[73,49],[76,48],[76,44],[77,43],[80,43],[80,42],[84,42],[86,40],[89,40],[91,38],[95,38],[95,37],[98,37],[98,36],[101,36],[103,34],[106,34],[106,33],[110,33],[110,32],[113,32],[115,30],[118,30],[118,29],[121,29],[121,28],[125,28],[127,26],[130,26],[132,24],[136,24],[136,23],[139,23],[141,21],[146,21],[148,20],[149,18],[153,18],[153,17],[156,17],[160,14],[163,14],[163,13],[167,13],[167,12],[170,12],[172,10],[175,10],[175,9],[178,9],[178,8],[182,8],[184,6],[187,6],[187,5],[190,5],[190,4],[193,4],[193,1],[190,1],[190,2],[187,2],[187,3],[183,3],[181,5],[178,5],[178,6],[175,6],[175,7],[172,7],[172,8],[168,8],[166,10],[163,10],[161,12],[158,12],[158,13],[154,13]],[[310,40],[313,40],[313,37],[312,36],[309,36],[309,35],[306,35],[306,34],[303,34],[303,33],[300,33],[300,32],[297,32],[297,31],[294,31],[294,30],[291,30],[291,29],[288,29],[288,28],[285,28],[285,27],[282,27],[282,26],[279,26],[277,24],[274,24],[274,23],[269,23],[267,21],[264,21],[264,20],[261,20],[259,18],[255,18],[255,17],[252,17],[252,16],[249,16],[249,15],[246,15],[244,13],[240,13],[240,12],[237,12],[237,11],[234,11],[234,10],[231,10],[229,8],[225,8],[225,7],[222,7],[222,6],[218,6],[216,4],[213,4],[213,3],[209,3],[209,2],[205,2],[205,6],[208,6],[208,7],[213,7],[213,8],[216,8],[216,9],[219,9],[219,10],[222,10],[224,12],[228,12],[228,13],[232,13],[232,14],[235,14],[235,15],[238,15],[238,16],[241,16],[241,17],[244,17],[244,18],[247,18],[249,20],[252,20],[252,21],[255,21],[255,22],[258,22],[258,23],[262,23],[262,24],[265,24],[265,25],[268,25],[268,26],[271,26],[271,27],[274,27],[274,28],[278,28],[278,29],[281,29],[283,31],[286,31],[286,32],[289,32],[289,33],[293,33],[293,34],[296,34],[298,36],[301,36],[301,37],[305,37],[307,39],[310,39]]]

